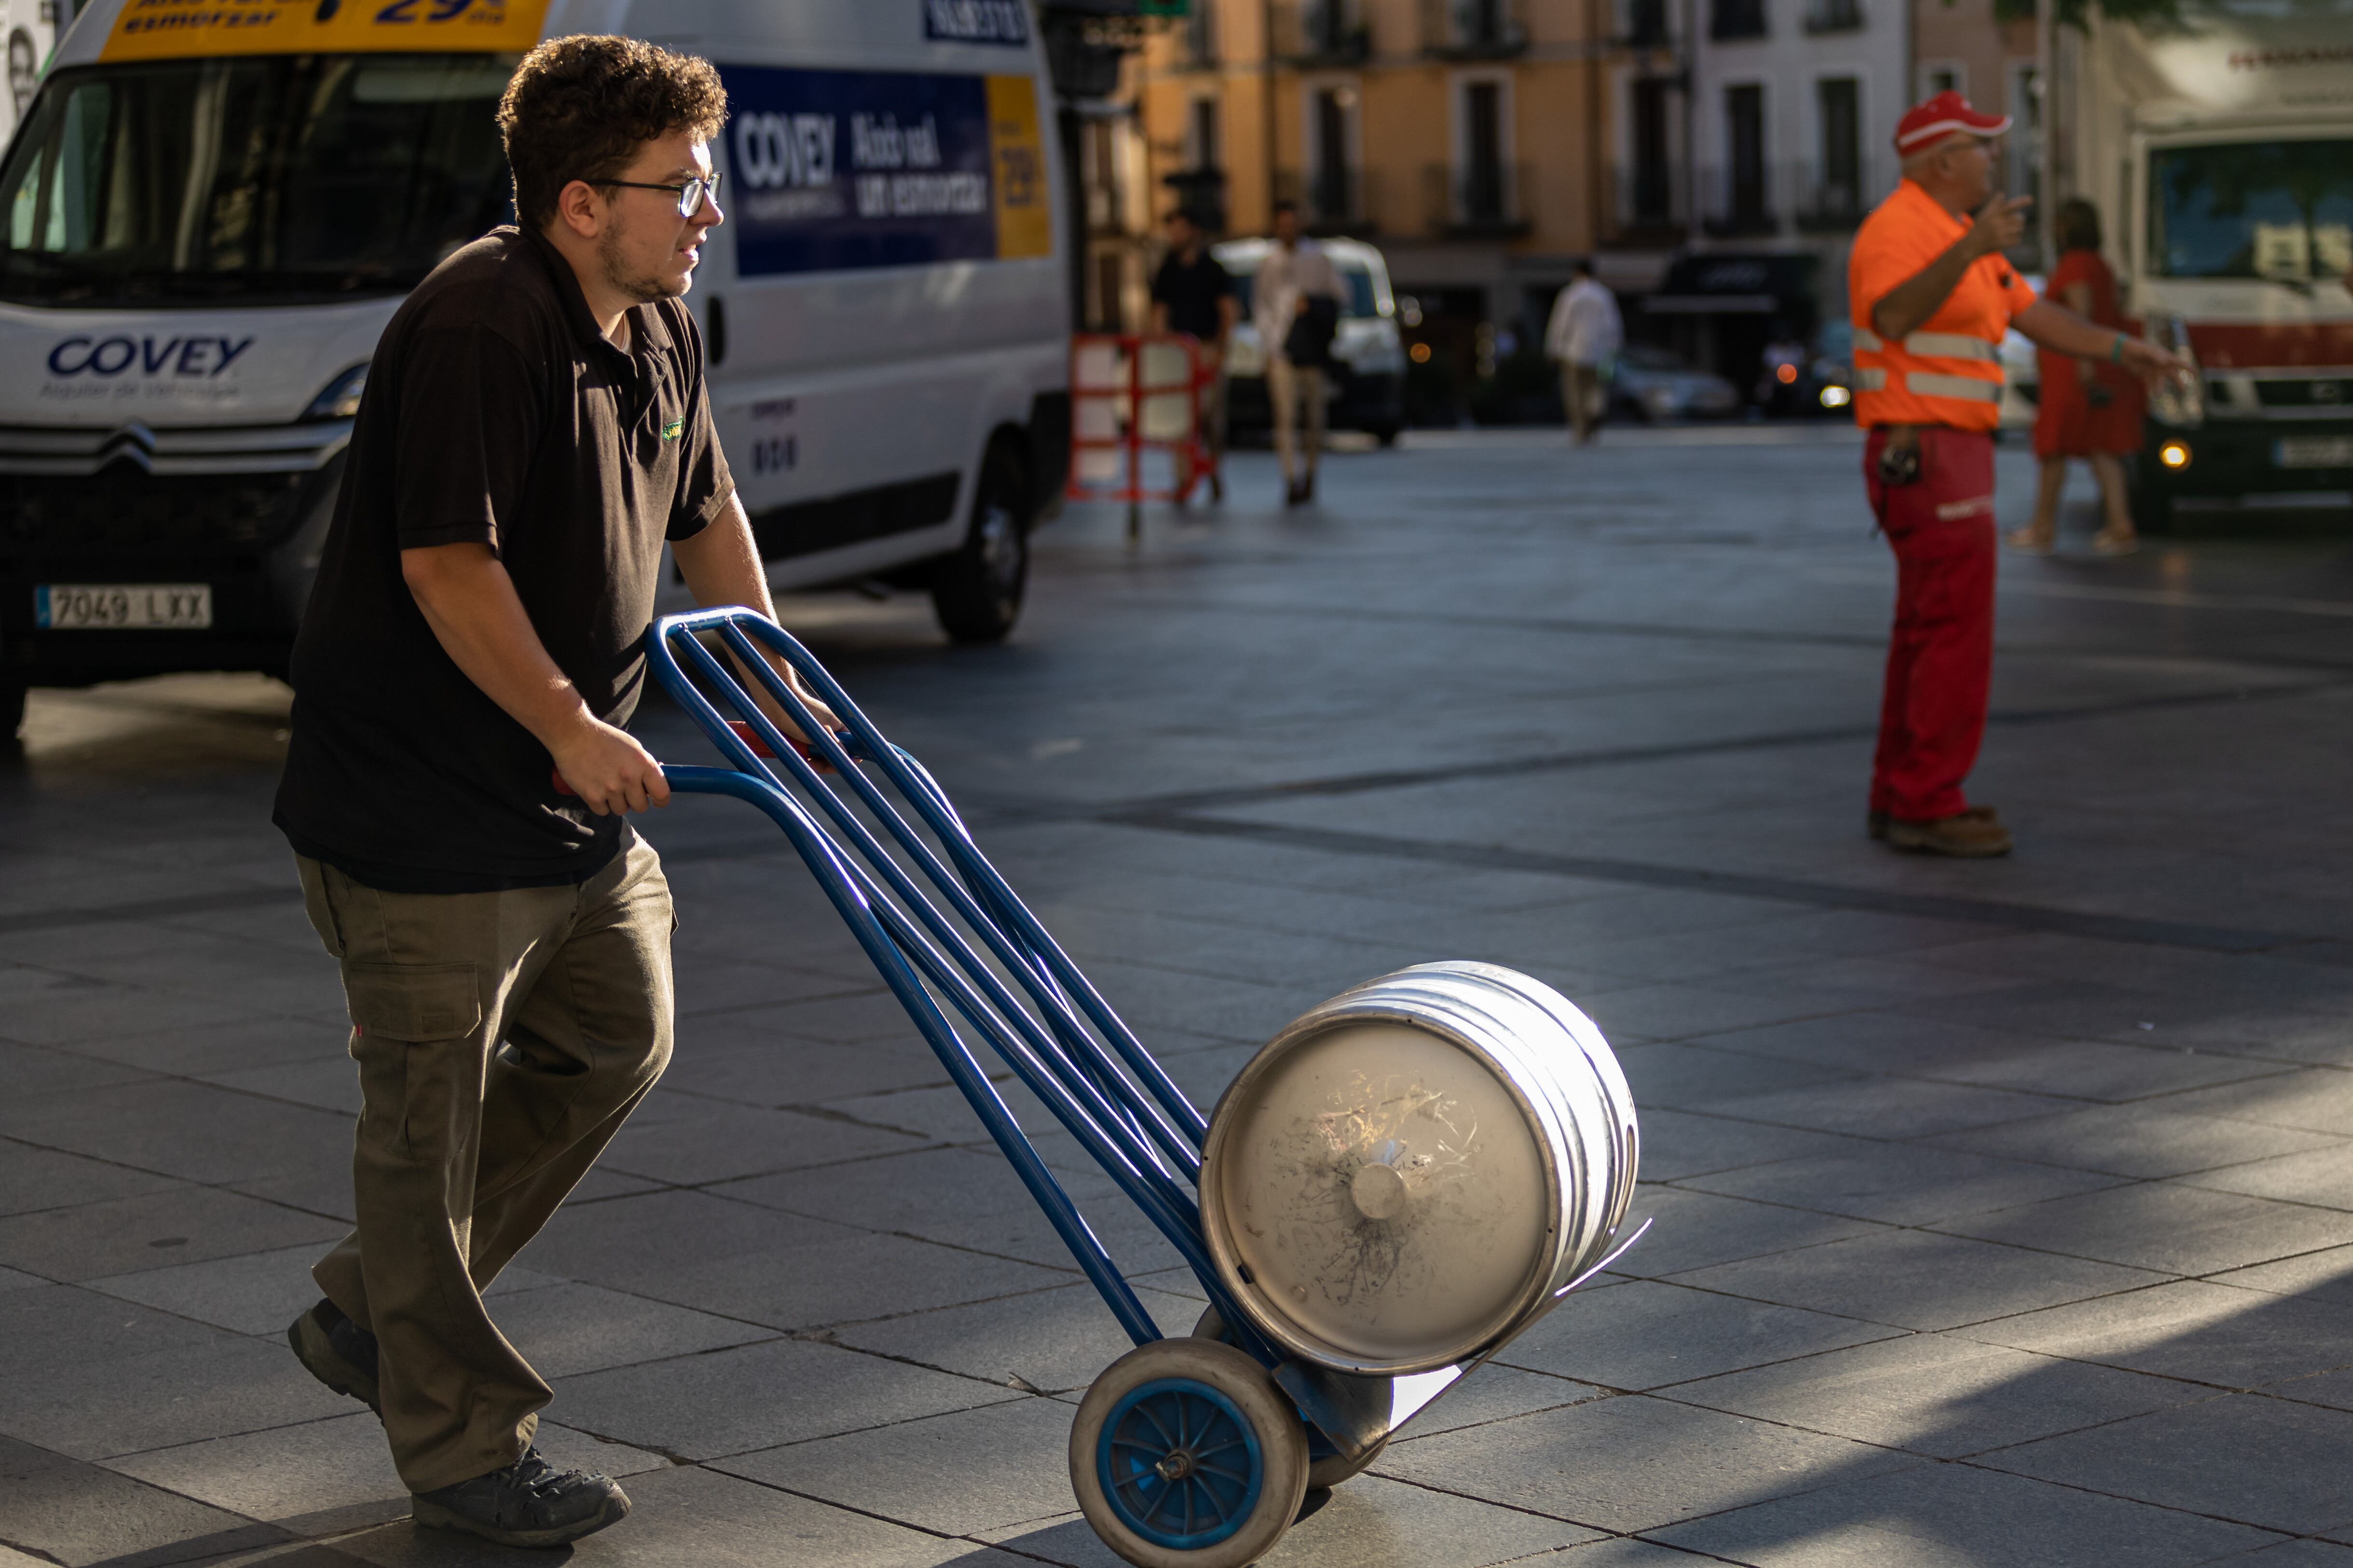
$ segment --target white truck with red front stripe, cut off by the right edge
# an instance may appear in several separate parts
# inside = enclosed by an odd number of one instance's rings
[[[2125,311],[2200,365],[2151,398],[2144,527],[2177,497],[2353,487],[2353,9],[2191,0],[2097,21],[2061,73],[2071,184]]]

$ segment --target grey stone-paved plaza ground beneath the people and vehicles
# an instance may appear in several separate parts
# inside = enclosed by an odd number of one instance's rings
[[[1200,1104],[1426,958],[1551,982],[1626,1064],[1649,1238],[1268,1568],[2353,1568],[2344,513],[2097,560],[2078,497],[2068,553],[2002,560],[1972,793],[2019,852],[1906,859],[1864,838],[1857,457],[1449,433],[1285,513],[1240,454],[1141,546],[1042,530],[1007,647],[788,600]],[[282,1340],[358,1107],[268,826],[285,713],[35,692],[0,760],[5,1568],[548,1561],[412,1528]],[[640,732],[708,760],[668,706]],[[1111,1566],[1064,1457],[1111,1314],[784,838],[711,798],[647,836],[678,1057],[494,1300],[544,1448],[635,1500],[569,1556]],[[1169,1248],[1038,1142],[1191,1328]]]

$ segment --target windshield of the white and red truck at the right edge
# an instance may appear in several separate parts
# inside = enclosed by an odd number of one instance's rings
[[[2353,141],[2224,141],[2148,155],[2160,278],[2325,283],[2353,271]]]

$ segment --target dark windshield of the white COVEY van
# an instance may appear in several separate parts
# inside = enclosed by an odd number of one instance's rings
[[[64,71],[0,167],[0,299],[405,292],[504,221],[513,57],[285,54]]]

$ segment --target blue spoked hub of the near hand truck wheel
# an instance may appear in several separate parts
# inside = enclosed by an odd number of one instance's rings
[[[1129,1389],[1104,1420],[1094,1464],[1120,1523],[1172,1552],[1240,1530],[1266,1483],[1259,1434],[1231,1398],[1191,1377]]]

